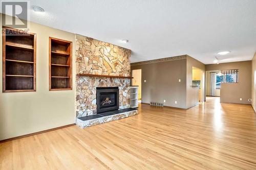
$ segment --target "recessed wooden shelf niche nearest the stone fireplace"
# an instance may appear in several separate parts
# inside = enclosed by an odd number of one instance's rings
[[[72,42],[49,37],[49,90],[72,90]]]

